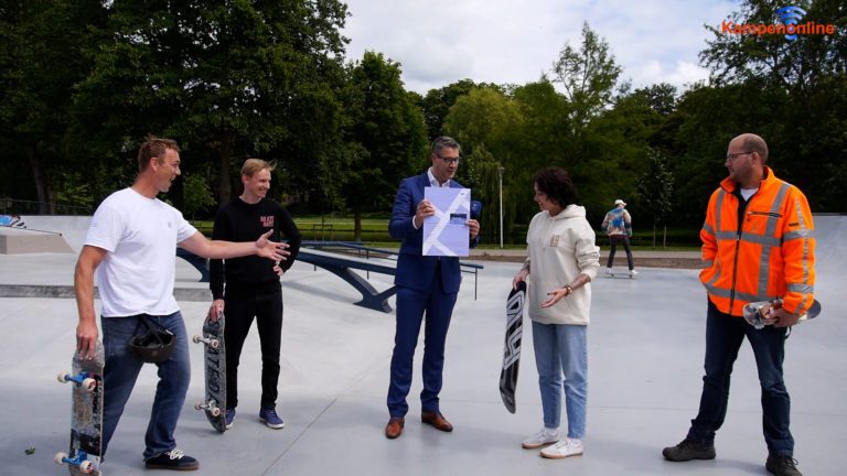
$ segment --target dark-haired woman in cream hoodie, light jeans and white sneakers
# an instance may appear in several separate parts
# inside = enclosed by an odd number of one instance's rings
[[[535,202],[542,210],[529,224],[528,257],[513,285],[528,283],[527,309],[533,321],[544,428],[524,440],[522,446],[547,446],[542,456],[564,458],[582,454],[588,400],[589,283],[600,268],[600,248],[586,219],[586,208],[573,203],[577,190],[564,169],[542,169],[533,185]],[[562,380],[568,416],[565,437],[559,433]]]

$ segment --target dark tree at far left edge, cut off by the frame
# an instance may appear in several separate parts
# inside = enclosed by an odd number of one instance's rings
[[[99,1],[0,7],[0,153],[30,170],[41,213],[55,205],[55,183],[74,176],[63,160],[71,90],[89,66],[79,54],[84,33],[101,22]]]

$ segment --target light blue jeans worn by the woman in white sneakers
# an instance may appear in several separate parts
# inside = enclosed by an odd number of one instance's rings
[[[559,428],[564,374],[568,437],[581,439],[586,434],[588,402],[588,327],[533,321],[533,347],[544,426]]]

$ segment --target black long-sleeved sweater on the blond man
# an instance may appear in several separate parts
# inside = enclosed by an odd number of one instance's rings
[[[300,251],[300,230],[288,210],[270,198],[248,204],[233,198],[217,212],[212,239],[227,241],[256,241],[261,234],[274,229],[271,240],[279,241],[280,232],[288,239],[291,255],[279,263],[283,271],[291,268]],[[227,260],[210,260],[210,289],[213,299],[224,298],[224,283],[228,292],[254,290],[256,292],[279,289],[279,277],[274,262],[267,258],[248,256]]]

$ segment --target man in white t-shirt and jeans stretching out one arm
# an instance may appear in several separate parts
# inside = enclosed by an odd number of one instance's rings
[[[107,197],[92,219],[76,263],[74,288],[79,312],[77,351],[93,358],[97,343],[94,309],[94,277],[103,303],[100,325],[106,353],[104,371],[103,454],[115,433],[143,363],[127,347],[137,334],[147,332],[147,318],[174,334],[171,356],[157,364],[159,385],[144,436],[146,467],[192,470],[196,459],[176,448],[173,436],[191,380],[185,324],[173,298],[174,250],[179,246],[195,255],[226,259],[258,255],[285,260],[287,245],[208,240],[172,206],[157,198],[180,175],[180,148],[170,139],[148,138],[138,152],[139,173],[132,186]]]

